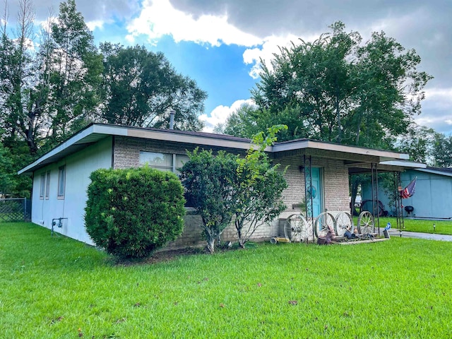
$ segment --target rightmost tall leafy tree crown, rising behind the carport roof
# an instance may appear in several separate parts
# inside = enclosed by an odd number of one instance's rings
[[[357,49],[352,78],[356,88],[346,133],[356,145],[389,148],[395,136],[408,131],[420,113],[423,88],[431,76],[417,71],[420,57],[384,32]]]

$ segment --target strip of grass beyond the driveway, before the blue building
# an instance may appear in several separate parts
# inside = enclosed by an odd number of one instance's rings
[[[356,225],[357,218],[354,218]],[[397,228],[396,218],[380,218],[380,227],[385,227],[391,222],[391,227]],[[452,235],[452,221],[450,220],[420,220],[420,219],[404,219],[405,229],[408,232],[422,232],[432,234],[448,234]],[[433,227],[435,225],[435,227]]]

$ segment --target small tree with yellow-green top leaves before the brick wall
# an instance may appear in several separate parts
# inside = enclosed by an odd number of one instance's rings
[[[232,201],[234,226],[239,245],[244,247],[261,225],[272,222],[286,206],[283,190],[287,188],[279,164],[273,166],[265,152],[276,141],[276,133],[287,130],[286,125],[276,125],[267,133],[254,135],[246,157],[237,159],[237,177]]]

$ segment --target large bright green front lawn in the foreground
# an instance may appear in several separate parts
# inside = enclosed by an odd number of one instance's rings
[[[450,338],[452,243],[259,244],[115,266],[0,223],[1,338]]]

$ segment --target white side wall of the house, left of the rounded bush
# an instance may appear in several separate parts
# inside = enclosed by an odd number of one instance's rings
[[[66,189],[64,199],[57,197],[59,167],[66,165]],[[57,163],[38,169],[34,173],[32,191],[32,222],[49,229],[52,219],[63,220],[63,227],[54,227],[56,232],[81,242],[93,244],[85,232],[83,220],[86,189],[90,184],[90,173],[99,168],[112,167],[112,137],[90,145]],[[40,198],[41,174],[50,171],[49,198]]]

